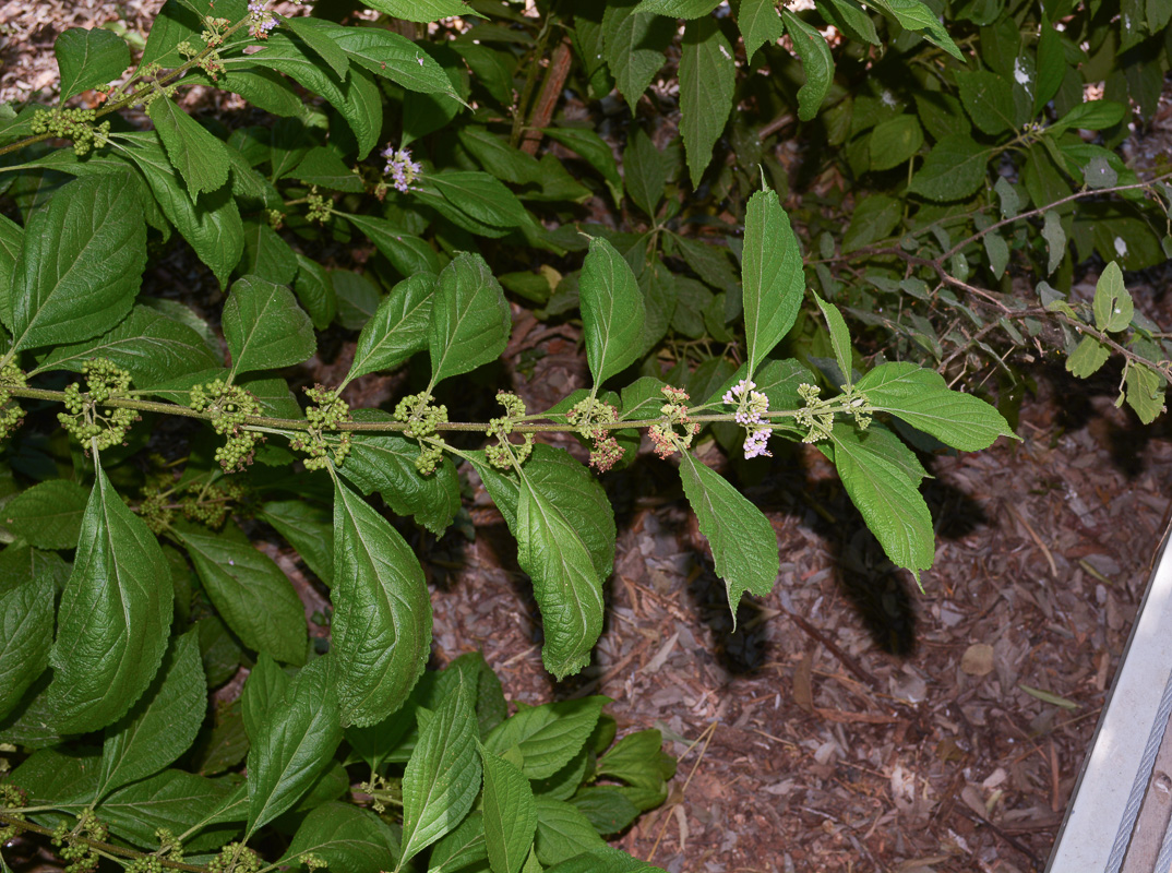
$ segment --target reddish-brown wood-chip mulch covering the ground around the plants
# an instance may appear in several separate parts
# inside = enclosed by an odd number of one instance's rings
[[[144,35],[156,6],[127,0],[121,18]],[[47,100],[55,35],[118,16],[107,0],[0,6],[0,101]],[[193,295],[210,287],[185,280]],[[512,369],[541,355],[529,378],[513,374],[531,407],[584,384],[572,329],[518,323],[529,333],[515,333]],[[679,479],[645,455],[605,479],[618,555],[581,677],[559,686],[541,668],[537,608],[482,487],[475,541],[450,533],[425,555],[436,660],[481,648],[516,700],[607,694],[622,729],[660,727],[680,773],[621,845],[673,873],[1041,869],[1172,495],[1167,424],[1116,409],[1109,381],[1045,376],[1022,442],[929,461],[939,536],[922,592],[884,559],[822,456],[775,444],[747,493],[777,531],[782,577],[742,603],[732,633]],[[359,388],[368,402],[389,390]]]

